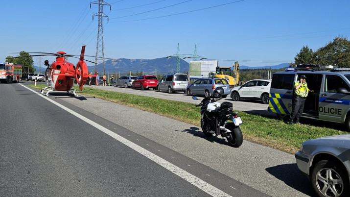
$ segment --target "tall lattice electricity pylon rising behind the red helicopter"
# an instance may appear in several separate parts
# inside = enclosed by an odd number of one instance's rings
[[[105,53],[104,53],[104,47],[103,47],[103,17],[108,16],[103,13],[103,5],[109,5],[110,10],[112,10],[112,6],[103,0],[96,0],[93,2],[90,2],[90,8],[91,8],[91,3],[93,4],[98,4],[98,13],[93,14],[93,16],[98,16],[98,30],[97,30],[97,43],[96,43],[96,57],[95,57],[95,69],[94,72],[97,71],[97,65],[102,63],[103,66],[103,74],[106,73],[106,68],[105,68]]]

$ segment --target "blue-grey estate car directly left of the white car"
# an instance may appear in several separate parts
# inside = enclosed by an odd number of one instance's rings
[[[201,78],[189,84],[186,88],[187,96],[204,95],[206,98],[212,96],[215,88],[222,87],[224,89],[223,98],[231,93],[230,84],[223,78]]]

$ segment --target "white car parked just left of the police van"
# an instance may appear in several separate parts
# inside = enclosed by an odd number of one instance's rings
[[[238,101],[240,98],[258,99],[262,103],[269,103],[271,79],[254,79],[231,90],[231,98]]]

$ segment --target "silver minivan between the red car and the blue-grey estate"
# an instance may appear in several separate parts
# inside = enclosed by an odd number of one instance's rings
[[[188,76],[184,73],[168,73],[165,74],[157,84],[157,91],[167,91],[169,94],[182,91],[186,93],[188,85]]]

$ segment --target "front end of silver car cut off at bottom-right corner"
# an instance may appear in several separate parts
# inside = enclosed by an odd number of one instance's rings
[[[350,196],[350,134],[307,140],[295,158],[320,197]]]

